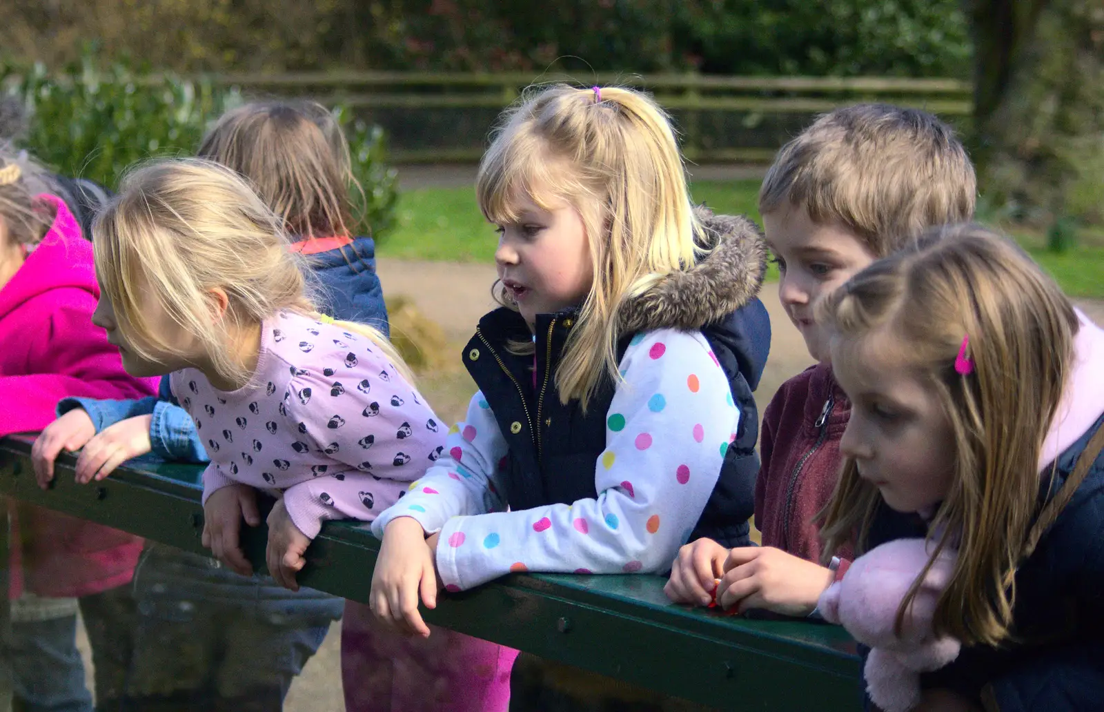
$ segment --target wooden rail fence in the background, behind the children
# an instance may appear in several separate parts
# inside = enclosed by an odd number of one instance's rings
[[[793,121],[799,127],[809,116],[856,102],[919,107],[956,121],[968,120],[973,113],[972,85],[945,78],[359,71],[216,74],[209,78],[236,86],[246,95],[306,96],[327,105],[343,104],[382,123],[396,137],[418,124],[439,135],[442,140],[432,147],[396,142],[394,158],[404,162],[478,160],[493,111],[508,106],[528,86],[555,82],[633,86],[654,93],[676,115],[683,153],[694,161],[769,161],[781,141],[796,130]],[[448,118],[440,113],[447,113]],[[465,113],[478,117],[473,118],[473,125],[456,120]],[[734,118],[735,123],[719,128],[718,117]],[[781,125],[758,144],[747,142],[747,134],[772,117]],[[725,135],[735,144],[722,140]]]

